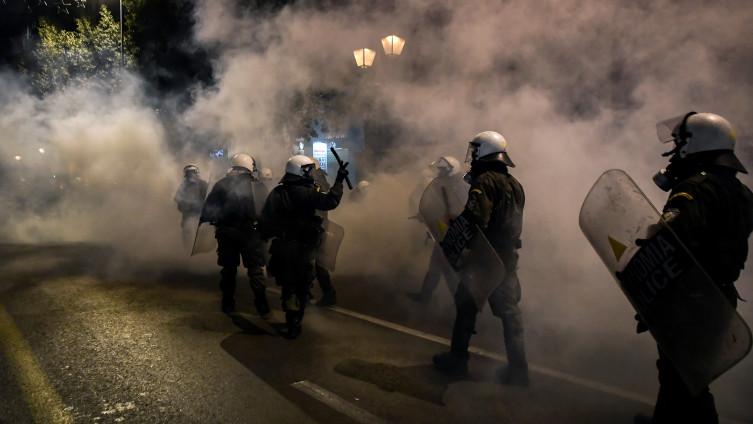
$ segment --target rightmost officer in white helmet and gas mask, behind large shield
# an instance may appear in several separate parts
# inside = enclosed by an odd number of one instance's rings
[[[735,281],[748,256],[753,231],[753,193],[737,179],[747,173],[734,153],[735,134],[726,119],[691,112],[677,120],[670,140],[675,148],[665,170],[654,177],[671,191],[662,218],[690,249],[701,267],[737,306]],[[638,332],[648,328],[640,321]],[[653,420],[636,422],[718,423],[709,388],[693,395],[670,359],[659,349],[659,395]]]

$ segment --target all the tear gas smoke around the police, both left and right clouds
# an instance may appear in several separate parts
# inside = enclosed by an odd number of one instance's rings
[[[631,309],[581,235],[578,210],[608,168],[628,171],[661,205],[651,176],[665,165],[666,146],[655,141],[654,124],[688,110],[727,117],[753,168],[749,4],[414,0],[327,10],[303,2],[259,15],[230,0],[204,0],[196,18],[197,40],[216,52],[217,84],[197,91],[179,116],[192,131],[217,134],[279,176],[291,153],[291,121],[300,117],[287,109],[296,93],[344,93],[347,107],[334,127],[389,129],[384,139],[367,135],[360,157],[372,183],[368,196],[360,203],[346,197],[330,215],[347,232],[339,273],[420,275],[428,250],[420,225],[407,218],[415,214],[408,198],[422,169],[441,155],[462,159],[479,131],[500,131],[527,194],[520,277],[529,339],[548,339],[529,350],[558,350],[563,364],[640,351],[644,359],[631,364],[645,366],[643,379],[653,380],[645,359],[651,342],[632,334]],[[391,60],[380,52],[373,68],[356,69],[352,51],[379,50],[389,33],[406,38],[403,55]],[[10,182],[13,155],[25,164],[30,155],[14,146],[44,147],[60,163],[76,164],[68,172],[88,186],[39,218],[10,213],[5,236],[107,241],[144,259],[177,251],[172,192],[183,161],[193,159],[168,152],[138,83],[117,95],[74,89],[39,100],[13,81],[0,79],[6,191],[24,197],[28,190]],[[750,279],[746,272],[738,284],[743,297],[753,297]],[[419,283],[396,281],[390,289]],[[749,307],[740,311],[753,321]],[[731,387],[748,392],[750,381],[739,376],[751,367],[747,358],[721,379],[728,403],[744,404]]]

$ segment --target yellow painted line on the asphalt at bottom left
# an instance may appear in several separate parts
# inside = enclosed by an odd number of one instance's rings
[[[31,346],[16,327],[13,318],[0,305],[0,350],[10,363],[16,381],[36,423],[72,423],[60,395],[50,385],[34,358]]]

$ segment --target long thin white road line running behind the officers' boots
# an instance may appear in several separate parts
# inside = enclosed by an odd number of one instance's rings
[[[280,294],[280,291],[275,288],[268,288],[267,290],[276,294]],[[325,309],[329,309],[331,311],[340,313],[342,315],[347,315],[351,318],[356,318],[361,321],[366,321],[371,324],[378,325],[380,327],[388,328],[393,331],[397,331],[403,334],[408,334],[410,336],[417,337],[419,339],[428,340],[430,342],[434,342],[434,343],[441,344],[448,347],[450,346],[450,340],[444,337],[436,336],[434,334],[426,333],[421,330],[416,330],[410,327],[406,327],[404,325],[396,324],[390,321],[385,321],[383,319],[375,318],[369,315],[364,315],[359,312],[342,308],[340,306],[328,306]],[[483,356],[485,358],[489,358],[495,361],[504,362],[504,363],[507,362],[507,358],[505,356],[488,351],[486,349],[481,349],[479,347],[471,346],[468,349],[468,351],[478,356]],[[577,375],[568,374],[563,371],[557,371],[555,369],[543,367],[540,365],[528,364],[528,368],[531,371],[534,371],[542,375],[546,375],[547,377],[556,378],[558,380],[562,380],[571,384],[576,384],[582,387],[587,387],[589,389],[596,390],[596,391],[606,393],[606,394],[610,394],[612,396],[617,396],[623,399],[642,403],[652,408],[654,406],[654,400],[655,400],[654,398],[642,395],[640,393],[631,392],[629,390],[625,390],[617,386],[600,383],[598,381],[590,380],[584,377],[578,377]],[[720,421],[728,423],[728,424],[744,424],[741,421],[736,421],[736,420],[729,419],[726,417],[719,417],[719,419]]]

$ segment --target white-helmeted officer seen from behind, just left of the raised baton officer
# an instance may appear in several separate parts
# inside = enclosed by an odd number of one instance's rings
[[[238,153],[232,157],[231,163],[227,175],[212,187],[201,222],[215,226],[217,265],[222,267],[222,311],[235,311],[235,277],[240,260],[243,260],[254,293],[254,306],[263,317],[269,314],[263,269],[266,244],[259,232],[257,202],[266,198],[267,191],[254,176],[256,169],[251,156]]]

